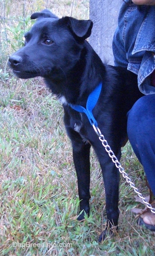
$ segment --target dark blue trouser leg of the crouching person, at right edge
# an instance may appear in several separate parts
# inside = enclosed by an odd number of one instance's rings
[[[155,195],[155,94],[135,102],[128,112],[127,133]]]

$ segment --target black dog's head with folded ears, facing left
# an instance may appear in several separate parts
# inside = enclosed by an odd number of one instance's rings
[[[37,19],[25,34],[25,46],[9,58],[9,66],[19,78],[66,76],[80,59],[91,20],[58,18],[49,10],[35,12]]]

